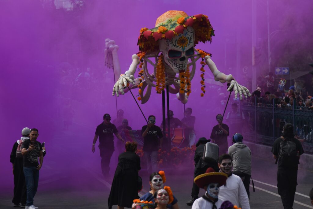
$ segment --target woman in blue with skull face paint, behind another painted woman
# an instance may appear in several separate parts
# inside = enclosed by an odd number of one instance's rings
[[[151,186],[151,191],[147,192],[144,194],[140,200],[145,200],[145,201],[152,201],[155,202],[154,199],[154,194],[156,191],[162,189],[164,187],[164,183],[166,182],[165,178],[165,173],[164,171],[159,171],[159,173],[154,172],[150,175],[150,186]],[[167,208],[170,209],[179,209],[177,199],[175,196],[173,196],[173,201],[169,204],[167,204]]]

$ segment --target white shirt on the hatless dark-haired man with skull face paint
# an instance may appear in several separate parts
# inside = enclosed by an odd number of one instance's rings
[[[232,174],[226,180],[226,185],[219,187],[218,200],[230,201],[233,205],[242,206],[242,209],[250,209],[249,198],[238,175]]]

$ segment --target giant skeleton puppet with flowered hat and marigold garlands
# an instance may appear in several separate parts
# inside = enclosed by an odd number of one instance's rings
[[[210,68],[215,81],[230,83],[227,91],[233,90],[235,98],[237,94],[240,99],[243,95],[250,96],[249,90],[239,85],[231,74],[225,75],[218,71],[210,54],[195,48],[199,42],[211,42],[213,31],[206,15],[188,16],[183,11],[167,11],[162,14],[157,18],[155,28],[141,29],[138,38],[140,53],[132,55],[129,70],[120,75],[113,87],[113,96],[124,94],[128,90],[126,86],[131,89],[139,87],[138,99],[143,104],[151,95],[151,87],[156,87],[157,93],[161,93],[165,85],[168,85],[169,92],[177,94],[177,98],[185,104],[191,92],[190,81],[195,74],[195,63],[200,58],[203,60],[202,66],[206,64]],[[111,65],[108,63],[113,62],[115,76],[119,75],[121,71],[117,58],[118,46],[114,41],[106,39],[106,47],[106,65]],[[149,58],[154,58],[155,62]],[[147,63],[154,67],[153,72],[148,71]],[[138,65],[142,70],[140,69],[139,76],[135,79],[134,74]],[[191,65],[192,70],[189,72]],[[204,72],[203,68],[201,71]],[[203,75],[201,84],[204,86]]]

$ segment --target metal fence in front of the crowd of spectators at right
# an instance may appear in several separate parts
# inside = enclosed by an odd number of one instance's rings
[[[273,104],[238,102],[238,109],[244,114],[241,127],[244,138],[256,144],[272,146],[282,135],[284,123],[292,123],[305,153],[313,154],[313,111],[300,106],[278,107]]]

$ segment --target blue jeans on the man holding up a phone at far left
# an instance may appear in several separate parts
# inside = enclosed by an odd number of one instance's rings
[[[24,176],[27,191],[26,206],[31,206],[34,204],[34,196],[38,188],[39,170],[35,166],[24,167]]]

